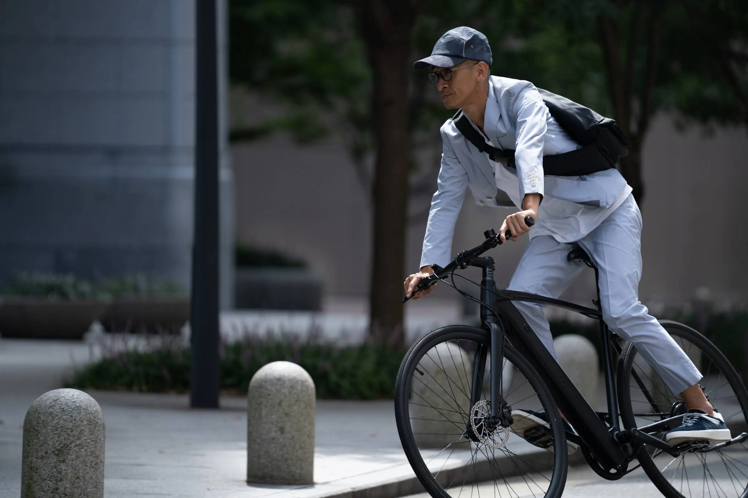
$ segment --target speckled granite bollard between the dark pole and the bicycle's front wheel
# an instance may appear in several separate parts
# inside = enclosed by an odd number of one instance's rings
[[[248,390],[247,482],[314,483],[314,382],[289,361],[257,370]]]

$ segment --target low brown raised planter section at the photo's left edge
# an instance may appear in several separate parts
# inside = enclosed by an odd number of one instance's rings
[[[93,299],[0,298],[0,335],[81,339],[108,306],[108,301]]]

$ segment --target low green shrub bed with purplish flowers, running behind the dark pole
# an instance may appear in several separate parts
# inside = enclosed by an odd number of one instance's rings
[[[260,367],[292,361],[310,373],[320,399],[391,399],[404,352],[369,345],[338,347],[248,338],[221,346],[221,389],[244,394]],[[150,352],[105,355],[74,373],[67,387],[137,392],[189,390],[190,349],[171,340]]]

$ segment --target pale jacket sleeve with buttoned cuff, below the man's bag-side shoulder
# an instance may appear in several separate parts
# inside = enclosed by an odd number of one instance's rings
[[[538,89],[532,83],[524,82],[514,102],[510,116],[517,122],[517,143],[515,164],[519,178],[519,198],[526,193],[545,193],[543,178],[543,146],[545,143],[545,107]]]

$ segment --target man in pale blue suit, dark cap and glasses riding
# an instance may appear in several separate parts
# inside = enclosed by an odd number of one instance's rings
[[[454,119],[441,126],[444,148],[438,190],[429,211],[420,271],[405,279],[406,296],[417,290],[420,278],[433,273],[432,264],[444,267],[450,261],[466,187],[479,205],[494,207],[499,188],[519,209],[503,220],[502,242],[506,242],[507,231],[512,240],[530,232],[527,216],[536,220],[509,290],[558,298],[582,269],[566,258],[571,246],[580,246],[598,267],[607,326],[634,343],[672,393],[680,393],[687,405],[681,426],[668,432],[666,441],[672,445],[729,441],[730,431],[722,415],[698,385],[702,374],[639,300],[642,219],[631,187],[617,169],[579,176],[544,175],[543,156],[570,152],[580,145],[551,116],[532,83],[491,76],[491,62],[485,36],[460,27],[447,31],[432,55],[413,65],[414,69],[431,68],[429,81],[436,84],[444,107],[462,110],[488,146],[515,149],[515,164],[493,161],[480,152],[459,131]],[[413,299],[431,291],[432,287],[421,290]],[[542,305],[515,305],[555,357]],[[512,416],[512,430],[529,442],[548,427],[543,413],[518,410]],[[526,437],[530,433],[533,438]]]

